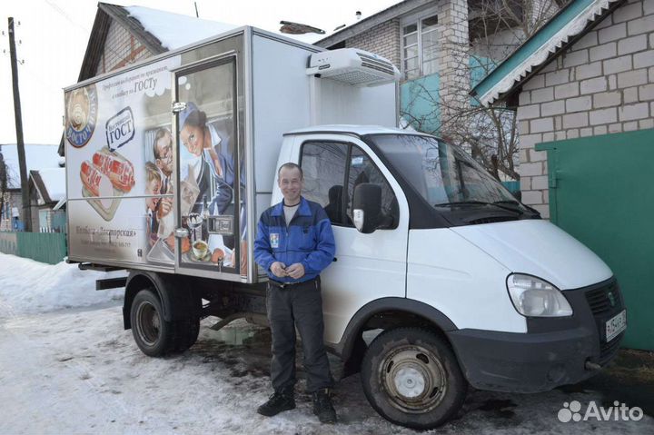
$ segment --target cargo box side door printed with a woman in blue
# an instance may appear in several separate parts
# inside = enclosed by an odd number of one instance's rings
[[[173,72],[176,272],[239,280],[245,266],[236,71],[232,54]]]

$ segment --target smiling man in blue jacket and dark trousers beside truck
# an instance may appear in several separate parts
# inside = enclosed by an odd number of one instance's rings
[[[295,327],[300,331],[307,392],[323,423],[336,421],[333,385],[323,343],[320,272],[332,263],[332,224],[320,204],[302,198],[302,168],[284,163],[277,173],[283,201],[262,213],[254,259],[270,278],[266,305],[272,331],[274,393],[258,412],[272,417],[295,408]]]

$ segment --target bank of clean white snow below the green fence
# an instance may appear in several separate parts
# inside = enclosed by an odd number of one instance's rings
[[[96,292],[95,280],[124,274],[80,271],[76,264],[50,265],[0,253],[0,318],[119,301],[122,289]]]

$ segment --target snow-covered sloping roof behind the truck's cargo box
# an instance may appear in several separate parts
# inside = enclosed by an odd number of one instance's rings
[[[168,50],[193,44],[239,27],[143,6],[124,6],[124,9]],[[183,32],[180,29],[183,29]]]

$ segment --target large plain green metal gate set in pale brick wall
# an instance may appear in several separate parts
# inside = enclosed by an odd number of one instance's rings
[[[654,350],[654,130],[540,143],[551,222],[596,252],[627,305],[623,346]]]

